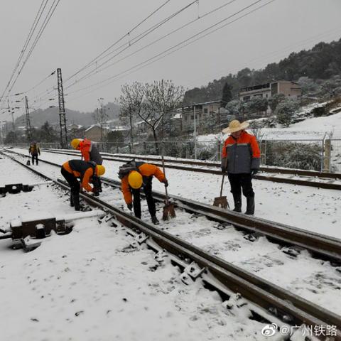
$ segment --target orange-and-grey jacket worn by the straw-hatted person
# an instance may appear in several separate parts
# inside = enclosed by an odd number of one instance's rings
[[[238,139],[230,135],[222,148],[222,166],[227,162],[228,173],[251,173],[259,170],[261,151],[254,135],[242,131]]]

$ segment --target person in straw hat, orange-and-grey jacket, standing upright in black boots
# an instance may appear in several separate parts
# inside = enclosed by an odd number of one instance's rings
[[[248,122],[240,123],[234,119],[223,133],[230,133],[222,148],[222,173],[229,177],[231,193],[234,200],[234,211],[242,212],[242,191],[247,197],[245,214],[254,214],[254,190],[252,175],[259,171],[261,152],[256,137],[244,129]]]

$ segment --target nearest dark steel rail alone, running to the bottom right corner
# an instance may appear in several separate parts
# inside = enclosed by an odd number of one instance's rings
[[[6,154],[5,154],[6,155]],[[48,176],[32,169],[25,164],[11,158],[13,161],[21,164],[21,166],[28,168],[33,173],[36,173],[43,178]],[[70,188],[63,183],[63,181],[53,180],[54,183],[60,187],[69,190]],[[293,317],[291,323],[305,323],[306,325],[320,326],[320,325],[335,325],[337,328],[337,336],[335,340],[341,340],[341,316],[331,311],[315,305],[290,291],[276,286],[274,283],[264,280],[254,274],[244,271],[243,269],[230,264],[223,259],[208,254],[206,251],[195,247],[193,244],[185,242],[183,239],[169,234],[161,229],[157,229],[152,224],[148,224],[136,218],[118,207],[109,205],[107,202],[99,200],[97,197],[82,193],[81,197],[95,207],[100,207],[102,210],[107,210],[113,217],[124,226],[138,229],[144,232],[153,239],[158,245],[166,249],[171,254],[178,256],[179,254],[189,259],[192,259],[197,264],[205,268],[213,276],[215,276],[224,286],[229,288],[234,293],[240,293],[242,296],[267,311],[271,311],[276,307],[279,313]]]

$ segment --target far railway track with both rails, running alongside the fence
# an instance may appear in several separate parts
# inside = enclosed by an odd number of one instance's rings
[[[58,151],[58,149],[42,149],[49,153],[62,153],[65,155],[75,155],[79,156],[80,153],[77,151]],[[103,153],[104,160],[107,161],[119,161],[126,162],[131,160],[131,158],[136,158],[137,161],[151,161],[156,166],[161,166],[161,159],[158,157],[152,158],[146,156],[141,158],[141,156],[136,156],[134,154],[129,154],[123,156],[121,154],[109,154]],[[180,161],[173,159],[165,159],[166,168],[178,169],[181,171],[193,171],[199,173],[210,173],[221,175],[220,163],[204,162],[204,161]],[[188,165],[188,166],[183,166]],[[255,179],[267,180],[275,183],[289,183],[292,185],[303,185],[315,188],[325,188],[329,190],[341,190],[341,175],[339,173],[320,173],[316,171],[303,171],[303,170],[290,170],[283,168],[270,168],[261,167],[261,171],[264,173],[277,173],[276,175],[266,175],[266,174],[256,174]],[[283,177],[281,175],[289,175],[288,177]],[[303,178],[304,177],[304,178]]]

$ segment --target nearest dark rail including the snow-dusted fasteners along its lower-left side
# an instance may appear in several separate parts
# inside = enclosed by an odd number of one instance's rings
[[[53,180],[15,158],[12,159],[43,178]],[[53,181],[68,190],[65,183],[60,180]],[[134,229],[132,233],[136,234],[136,241],[146,241],[148,247],[159,252],[159,256],[161,256],[162,249],[166,249],[171,254],[171,261],[180,266],[181,269],[185,269],[185,276],[191,278],[201,276],[203,283],[215,288],[222,296],[227,298],[242,295],[242,298],[239,298],[239,303],[242,303],[241,305],[248,304],[252,318],[259,318],[259,320],[268,321],[269,323],[276,322],[279,326],[301,324],[308,326],[335,325],[335,328],[337,328],[336,335],[332,336],[330,340],[341,340],[340,315],[296,296],[224,259],[213,256],[193,244],[175,237],[173,234],[158,229],[131,216],[124,210],[120,210],[118,207],[99,200],[97,197],[92,197],[92,195],[86,193],[82,193],[81,196],[90,205],[106,210],[108,214],[126,227]],[[189,260],[194,263],[190,263]],[[324,339],[325,337],[320,338],[320,340]]]

